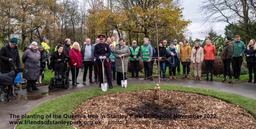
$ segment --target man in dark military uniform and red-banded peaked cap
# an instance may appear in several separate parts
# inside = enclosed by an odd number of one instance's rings
[[[94,48],[94,57],[97,58],[97,69],[99,73],[99,87],[101,87],[101,83],[103,83],[103,73],[102,73],[102,63],[101,60],[105,59],[103,62],[105,73],[107,76],[109,88],[112,89],[112,80],[111,80],[111,71],[110,71],[110,62],[108,60],[108,57],[111,54],[111,49],[109,48],[109,45],[107,43],[104,43],[105,41],[105,35],[99,35],[98,38],[100,39],[100,42],[95,45]]]

